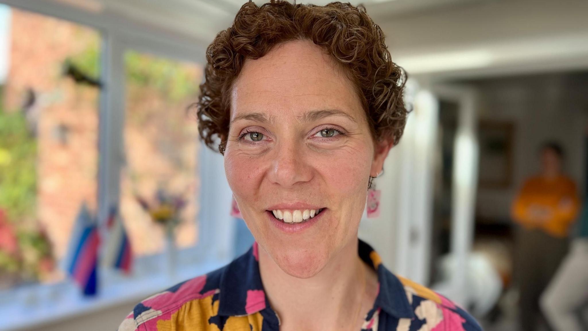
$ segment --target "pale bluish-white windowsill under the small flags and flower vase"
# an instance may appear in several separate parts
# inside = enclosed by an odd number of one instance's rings
[[[175,274],[142,273],[142,276],[123,277],[101,275],[99,296],[83,297],[71,281],[57,284],[38,284],[1,293],[0,331],[28,330],[98,312],[119,304],[132,304],[176,283],[208,273],[228,261],[206,261],[182,267]],[[139,273],[141,274],[141,273]],[[100,286],[100,284],[99,284]],[[122,312],[125,314],[128,312]],[[121,320],[125,316],[121,316]]]

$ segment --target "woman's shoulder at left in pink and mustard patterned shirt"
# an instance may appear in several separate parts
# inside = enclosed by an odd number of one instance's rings
[[[218,311],[220,277],[225,268],[186,280],[148,297],[133,308],[118,331],[168,330],[178,319],[185,319],[186,316],[192,321],[182,320],[183,324],[208,325],[210,317]],[[163,326],[165,324],[169,327]]]

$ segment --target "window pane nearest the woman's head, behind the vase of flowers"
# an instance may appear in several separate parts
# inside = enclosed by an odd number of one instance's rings
[[[126,166],[122,174],[121,210],[136,255],[165,247],[161,224],[138,203],[153,204],[156,194],[181,198],[179,247],[197,240],[198,125],[188,106],[196,100],[202,67],[135,51],[125,54]]]

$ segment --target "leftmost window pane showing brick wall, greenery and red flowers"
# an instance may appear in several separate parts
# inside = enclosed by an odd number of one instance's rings
[[[0,12],[0,287],[9,287],[62,277],[55,262],[76,214],[83,201],[96,209],[100,35]]]

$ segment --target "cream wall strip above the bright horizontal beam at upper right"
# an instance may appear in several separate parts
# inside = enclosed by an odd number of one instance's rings
[[[585,34],[587,11],[583,0],[493,0],[378,20],[392,52],[402,54]]]

